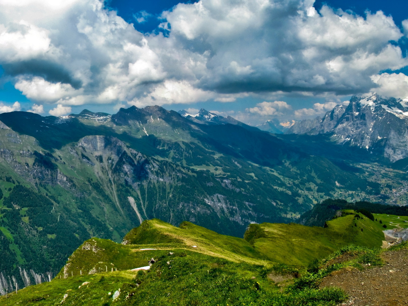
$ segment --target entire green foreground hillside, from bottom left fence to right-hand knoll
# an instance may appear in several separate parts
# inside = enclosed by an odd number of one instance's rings
[[[359,216],[344,211],[325,228],[252,224],[245,239],[190,222],[175,227],[148,220],[122,244],[85,241],[52,282],[0,297],[0,304],[335,306],[346,295],[337,288],[318,289],[321,277],[347,265],[381,264],[376,248],[384,237],[381,224]],[[306,271],[314,259],[327,262],[347,252],[353,254],[349,263]],[[131,271],[151,258],[148,271]]]

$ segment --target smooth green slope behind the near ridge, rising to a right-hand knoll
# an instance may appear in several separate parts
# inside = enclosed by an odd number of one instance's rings
[[[295,223],[250,225],[250,231],[254,233],[249,237],[247,232],[246,239],[271,261],[307,265],[348,244],[381,246],[384,228],[378,222],[360,215],[361,219],[356,219],[353,214],[328,221],[326,228]]]

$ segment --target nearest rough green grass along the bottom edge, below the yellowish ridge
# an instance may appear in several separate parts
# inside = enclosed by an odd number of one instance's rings
[[[336,305],[340,289],[282,292],[268,278],[272,269],[235,263],[185,250],[157,254],[148,272],[114,271],[56,278],[0,297],[2,305]],[[89,282],[87,285],[82,285]],[[120,289],[115,301],[112,295]],[[111,293],[111,295],[109,295]]]

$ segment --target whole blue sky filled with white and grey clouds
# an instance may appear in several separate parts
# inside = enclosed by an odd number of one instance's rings
[[[408,97],[407,53],[406,0],[0,0],[0,112],[300,120]]]

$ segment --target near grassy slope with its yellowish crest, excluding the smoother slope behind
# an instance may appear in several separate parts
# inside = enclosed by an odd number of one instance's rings
[[[52,282],[0,297],[0,304],[55,305],[61,303],[65,294],[63,304],[70,305],[317,306],[335,305],[345,298],[341,290],[330,288],[317,290],[311,287],[283,293],[267,275],[294,270],[282,265],[273,266],[267,261],[262,261],[264,265],[256,264],[261,263],[260,255],[243,239],[219,235],[188,222],[184,222],[182,228],[160,220],[145,221],[144,225],[143,231],[133,231],[126,238],[133,239],[133,242],[142,239],[147,243],[148,236],[157,242],[163,241],[165,235],[166,239],[170,237],[171,241],[177,239],[177,242],[121,245],[109,240],[90,239],[70,257],[65,269],[66,278],[62,269]],[[151,257],[156,263],[149,272],[129,271],[147,265]],[[107,266],[114,271],[106,272]],[[96,273],[88,274],[93,268]],[[84,282],[89,284],[82,286]],[[108,293],[118,289],[119,299],[113,302]]]

